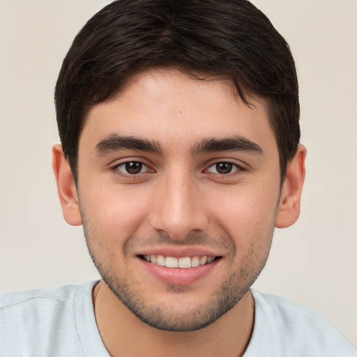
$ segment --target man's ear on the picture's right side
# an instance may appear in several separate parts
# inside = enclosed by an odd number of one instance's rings
[[[299,145],[294,158],[287,165],[287,176],[280,192],[280,202],[275,227],[293,225],[300,215],[301,191],[305,181],[306,149]]]

